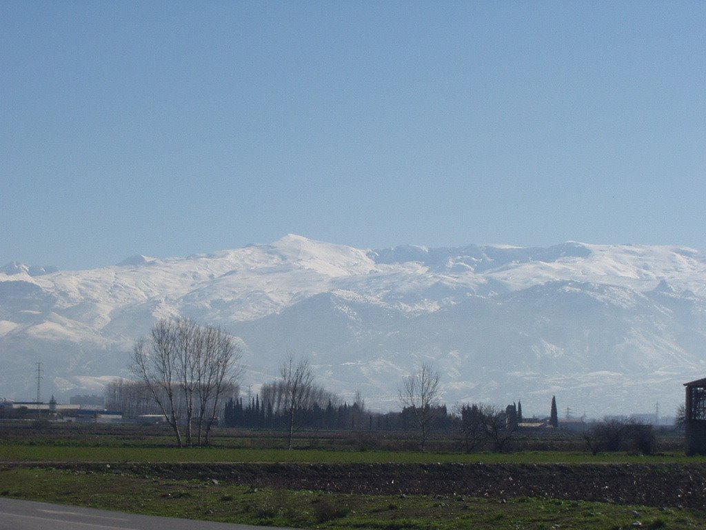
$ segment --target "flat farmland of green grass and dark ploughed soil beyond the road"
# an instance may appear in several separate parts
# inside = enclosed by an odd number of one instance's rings
[[[706,526],[706,459],[669,437],[650,456],[593,455],[566,433],[465,454],[384,450],[373,434],[377,449],[331,432],[316,443],[302,433],[288,451],[273,432],[222,431],[214,447],[176,449],[160,428],[2,428],[8,497],[300,528]],[[567,450],[537,449],[555,445]]]

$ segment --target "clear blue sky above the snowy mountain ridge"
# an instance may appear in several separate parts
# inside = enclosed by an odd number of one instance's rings
[[[0,265],[706,249],[706,4],[0,2]]]

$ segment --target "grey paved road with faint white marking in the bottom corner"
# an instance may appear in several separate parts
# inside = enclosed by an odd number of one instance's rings
[[[274,530],[0,497],[0,530]],[[283,529],[277,529],[283,530]],[[289,529],[292,530],[292,529]]]

